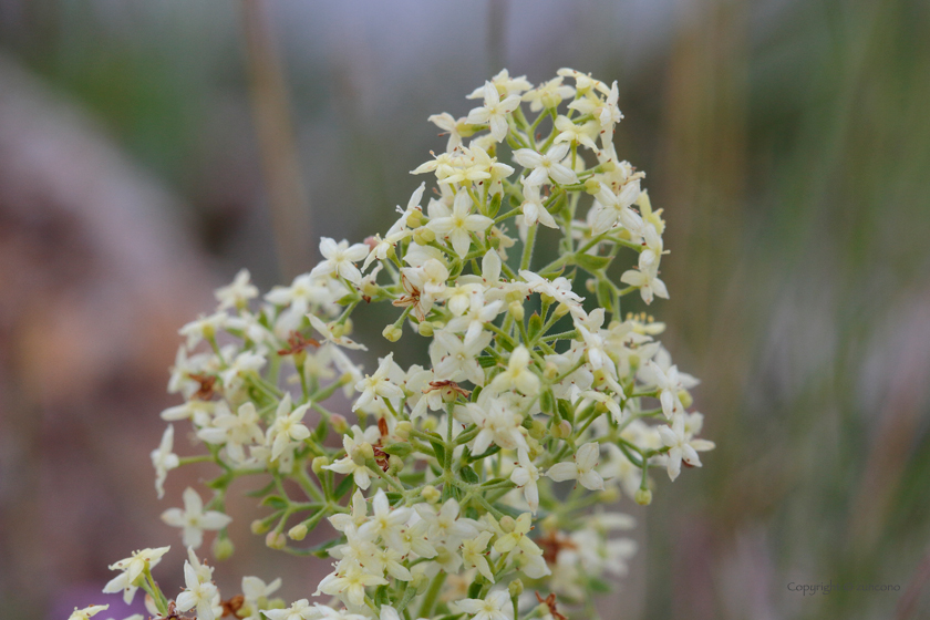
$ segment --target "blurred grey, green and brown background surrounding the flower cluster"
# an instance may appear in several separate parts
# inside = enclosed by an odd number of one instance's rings
[[[619,81],[669,223],[650,311],[719,446],[620,506],[604,618],[930,617],[928,33],[923,0],[0,0],[0,616],[115,603],[142,546],[176,587],[158,515],[203,474],[158,503],[148,452],[177,329],[241,267],[268,289],[385,229],[428,114],[572,66]],[[309,595],[231,509],[220,583]],[[787,589],[830,581],[899,590]]]

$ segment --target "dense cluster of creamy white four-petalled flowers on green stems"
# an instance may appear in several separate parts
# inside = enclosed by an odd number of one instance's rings
[[[169,390],[185,402],[162,417],[203,450],[175,454],[169,424],[155,486],[180,465],[218,468],[206,504],[188,488],[163,515],[190,548],[187,588],[169,601],[152,579],[163,548],[113,565],[104,591],[142,587],[162,618],[517,620],[588,617],[626,572],[634,545],[613,533],[632,520],[591,508],[621,493],[648,504],[650,468],[675,479],[713,448],[688,412],[696,380],[655,340],[664,326],[620,311],[634,291],[668,297],[662,213],[616,154],[616,82],[564,69],[534,86],[505,70],[469,99],[482,104],[466,116],[430,118],[448,143],[413,170],[435,176],[425,207],[421,184],[383,236],[324,238],[323,260],[262,300],[241,271],[180,330]],[[353,361],[352,317],[375,302],[396,308],[389,341],[406,327],[428,339],[428,365]],[[353,425],[333,411],[344,399]],[[245,476],[267,484],[252,530],[269,547],[332,558],[320,603],[283,608],[268,599],[279,580],[256,578],[224,600],[194,555],[205,530],[218,558],[231,552],[226,494]],[[337,537],[301,545],[323,519]]]

